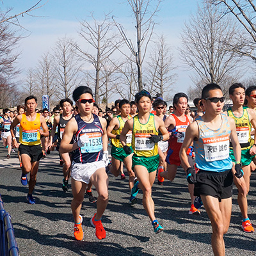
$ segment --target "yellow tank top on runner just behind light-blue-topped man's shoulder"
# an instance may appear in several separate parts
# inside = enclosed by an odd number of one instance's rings
[[[236,122],[236,133],[238,137],[238,141],[241,145],[241,149],[248,149],[252,147],[253,141],[251,138],[252,125],[250,123],[250,118],[248,115],[248,111],[244,108],[243,116],[236,117],[232,112],[232,109],[228,109],[228,116],[232,117]],[[230,143],[230,148],[232,148],[232,144]]]

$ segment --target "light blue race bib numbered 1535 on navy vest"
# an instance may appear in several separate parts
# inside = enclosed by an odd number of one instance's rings
[[[80,134],[82,136],[83,134]],[[82,153],[95,153],[102,150],[102,135],[100,132],[89,132],[86,133],[88,141],[81,147]]]

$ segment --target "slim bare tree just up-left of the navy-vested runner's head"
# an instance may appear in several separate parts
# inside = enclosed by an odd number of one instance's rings
[[[74,89],[82,83],[81,63],[73,51],[74,42],[64,37],[56,42],[54,60],[56,65],[56,96],[58,99],[71,97]]]

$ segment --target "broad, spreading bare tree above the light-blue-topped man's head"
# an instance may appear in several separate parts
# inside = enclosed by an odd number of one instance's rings
[[[239,68],[236,52],[227,46],[239,45],[236,38],[236,24],[230,19],[221,19],[218,6],[204,1],[203,8],[198,7],[196,16],[182,31],[180,56],[184,63],[195,70],[197,77],[191,77],[195,84],[224,83]],[[241,71],[241,69],[240,69]],[[240,72],[241,73],[241,72]]]

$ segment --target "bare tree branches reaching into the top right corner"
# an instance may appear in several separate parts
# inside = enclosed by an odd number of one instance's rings
[[[209,0],[216,6],[222,6],[221,15],[231,13],[236,17],[236,20],[241,24],[243,32],[240,33],[243,47],[234,47],[234,51],[243,55],[249,56],[253,61],[256,61],[256,6],[253,0]]]

